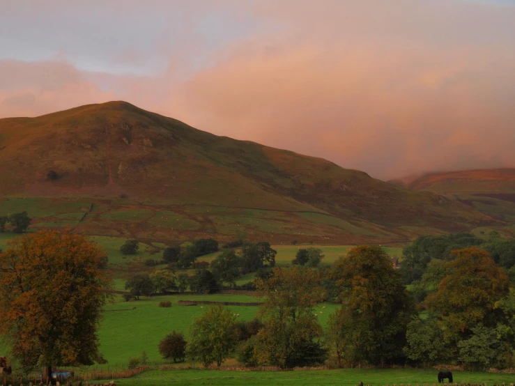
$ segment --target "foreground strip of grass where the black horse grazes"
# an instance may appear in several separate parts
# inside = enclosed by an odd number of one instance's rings
[[[512,383],[513,374],[453,371],[457,383]],[[316,371],[147,371],[130,379],[116,380],[116,385],[433,385],[438,370],[419,369],[341,369]]]

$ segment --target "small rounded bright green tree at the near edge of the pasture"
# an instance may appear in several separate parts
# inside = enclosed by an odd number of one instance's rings
[[[187,357],[201,361],[205,367],[213,362],[220,367],[238,343],[233,329],[235,322],[236,316],[223,306],[211,307],[206,314],[195,318],[186,346]]]

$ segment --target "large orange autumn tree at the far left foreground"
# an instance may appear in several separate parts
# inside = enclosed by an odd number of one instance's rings
[[[0,334],[24,371],[102,363],[97,327],[105,254],[70,231],[40,231],[0,253]]]

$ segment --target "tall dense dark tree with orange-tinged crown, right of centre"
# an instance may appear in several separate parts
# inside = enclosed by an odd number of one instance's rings
[[[378,246],[355,247],[337,261],[333,275],[342,302],[335,318],[346,339],[346,360],[402,360],[414,307],[390,256]]]

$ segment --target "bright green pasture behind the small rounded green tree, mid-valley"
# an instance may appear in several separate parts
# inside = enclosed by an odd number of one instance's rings
[[[159,302],[170,300],[172,307],[157,307]],[[145,350],[151,361],[161,357],[157,345],[172,330],[181,331],[186,340],[193,318],[206,312],[209,305],[179,306],[178,300],[208,300],[211,302],[259,302],[261,299],[251,295],[167,295],[141,298],[125,302],[116,296],[116,302],[107,304],[104,312],[99,337],[100,350],[109,365],[125,365],[129,357],[135,357]],[[323,308],[325,307],[325,308]],[[238,318],[251,320],[259,307],[230,306]],[[314,312],[322,325],[328,321],[328,315],[337,309],[337,304],[319,304]],[[322,314],[321,314],[322,312]]]

